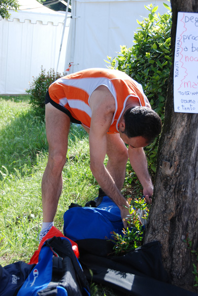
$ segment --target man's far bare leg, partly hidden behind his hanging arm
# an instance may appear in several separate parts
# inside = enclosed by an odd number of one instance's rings
[[[129,155],[128,149],[119,134],[107,135],[106,154],[108,155],[106,168],[118,189],[121,190],[125,180],[126,164]]]

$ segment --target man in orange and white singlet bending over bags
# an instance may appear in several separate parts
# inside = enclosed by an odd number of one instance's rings
[[[119,207],[126,228],[129,204],[121,188],[127,161],[130,159],[143,194],[151,203],[153,184],[143,147],[160,134],[162,127],[141,85],[118,70],[87,69],[52,83],[45,103],[49,158],[42,178],[43,226],[39,239],[52,227],[57,211],[70,122],[82,124],[89,133],[90,169],[105,194]]]

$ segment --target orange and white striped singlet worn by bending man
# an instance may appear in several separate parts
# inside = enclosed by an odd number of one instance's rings
[[[138,98],[146,106],[142,86],[127,74],[110,69],[91,68],[57,79],[49,87],[50,98],[65,107],[71,115],[90,127],[92,110],[90,96],[100,85],[105,85],[115,100],[115,112],[108,133],[118,133],[118,122],[129,97]]]

